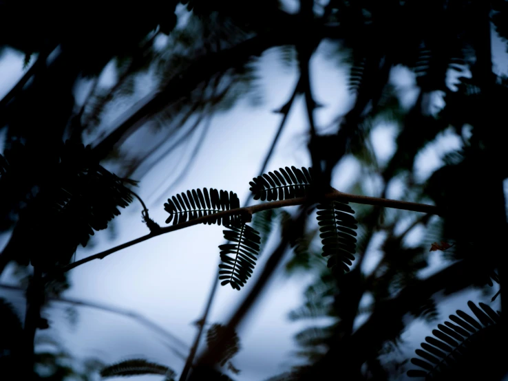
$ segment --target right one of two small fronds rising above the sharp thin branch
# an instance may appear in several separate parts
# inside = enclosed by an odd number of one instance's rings
[[[312,168],[302,167],[301,171],[295,166],[279,168],[279,171],[264,173],[254,177],[251,184],[251,192],[254,199],[261,201],[276,201],[277,199],[294,199],[304,197],[308,193],[313,179],[310,176]]]

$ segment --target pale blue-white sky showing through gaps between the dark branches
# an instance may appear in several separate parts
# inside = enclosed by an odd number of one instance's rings
[[[163,44],[164,41],[158,43]],[[496,47],[498,41],[494,41]],[[326,44],[321,45],[311,63],[311,79],[315,98],[324,107],[317,111],[317,125],[327,126],[333,118],[344,113],[350,107],[352,99],[346,87],[346,71],[336,62],[326,58]],[[497,65],[505,67],[504,57],[500,54]],[[279,50],[268,50],[258,61],[261,74],[261,88],[264,102],[252,107],[243,100],[230,111],[216,113],[211,121],[207,139],[202,149],[193,157],[193,165],[189,173],[174,188],[167,190],[169,184],[178,173],[178,156],[182,152],[161,160],[152,171],[136,173],[133,178],[140,179],[137,193],[145,199],[150,215],[161,226],[167,218],[163,204],[167,197],[188,189],[218,188],[233,190],[243,203],[248,196],[248,182],[258,175],[260,165],[275,136],[280,116],[273,113],[281,107],[290,96],[297,80],[297,67],[285,66],[279,59]],[[109,71],[108,71],[109,70]],[[114,72],[111,68],[105,71],[101,83],[114,83]],[[23,55],[12,50],[0,56],[0,97],[5,95],[23,75]],[[392,76],[401,89],[404,89],[405,101],[414,100],[417,95],[414,88],[414,77],[402,68],[394,69]],[[140,78],[136,86],[136,94],[129,102],[134,103],[153,89],[149,76]],[[76,88],[78,100],[84,99],[87,84],[82,83]],[[80,98],[81,97],[81,98]],[[107,114],[103,124],[114,126],[114,122],[129,103],[118,105]],[[125,146],[131,149],[142,149],[140,142],[147,141],[151,132],[140,129],[131,135]],[[275,153],[268,164],[267,171],[280,166],[310,166],[310,157],[306,149],[308,138],[307,120],[302,99],[295,102],[290,113],[286,128],[282,133]],[[388,160],[394,151],[396,129],[390,124],[381,124],[374,129],[371,142],[381,164]],[[93,136],[90,137],[91,141]],[[195,138],[194,138],[195,139]],[[460,146],[461,140],[452,131],[445,131],[435,144],[430,144],[416,160],[417,179],[423,181],[432,171],[442,164],[440,157],[451,149]],[[187,152],[190,149],[187,150]],[[239,170],[241,169],[241,171]],[[344,160],[334,171],[332,186],[348,191],[358,176],[362,176],[359,165],[354,160]],[[160,186],[162,184],[162,186]],[[366,188],[368,190],[369,187]],[[369,195],[379,195],[379,187],[375,180],[370,186]],[[401,189],[390,188],[390,198],[397,198]],[[162,201],[160,200],[162,198]],[[122,210],[116,218],[114,234],[110,230],[96,232],[93,245],[78,248],[76,259],[87,257],[96,252],[117,246],[125,241],[147,234],[147,227],[141,222],[140,205],[134,202],[129,208]],[[415,229],[408,237],[408,245],[421,239],[423,232]],[[381,237],[373,240],[381,242]],[[6,243],[7,235],[0,237],[0,248]],[[219,261],[218,246],[224,243],[222,226],[193,226],[191,228],[171,232],[120,252],[116,252],[102,261],[86,263],[70,272],[72,288],[65,292],[68,298],[79,298],[83,301],[103,303],[112,307],[128,309],[142,314],[177,336],[183,343],[163,338],[156,331],[140,325],[136,320],[119,316],[97,309],[78,308],[77,323],[71,324],[67,318],[67,305],[52,303],[43,315],[49,318],[51,329],[45,333],[54,335],[67,349],[72,349],[74,356],[86,358],[96,356],[106,363],[117,362],[127,358],[147,358],[173,368],[177,373],[184,361],[167,347],[167,344],[178,349],[187,356],[193,342],[196,327],[193,322],[202,315],[204,304],[209,296]],[[277,237],[268,243],[262,253],[256,271],[240,292],[231,287],[220,287],[209,316],[209,323],[224,323],[229,314],[246,296],[250,286],[255,283],[257,275],[264,267],[264,261],[271,252]],[[286,255],[286,260],[290,253]],[[364,270],[374,268],[379,259],[379,248],[371,245],[366,254]],[[440,253],[432,254],[432,269],[436,271],[443,265]],[[10,283],[10,274],[2,274],[0,281]],[[235,377],[238,380],[265,380],[273,375],[288,370],[297,361],[291,352],[297,349],[294,336],[312,322],[290,322],[288,312],[301,305],[302,292],[311,281],[311,275],[299,275],[288,278],[282,271],[277,272],[269,283],[266,292],[259,299],[252,313],[244,320],[240,331],[241,351],[233,358],[235,367],[242,373]],[[11,282],[12,283],[12,282]],[[8,294],[7,291],[0,291]],[[476,301],[478,292],[468,296]],[[23,296],[21,293],[10,293],[19,298],[17,306],[23,312]],[[488,300],[488,299],[487,299]],[[366,303],[367,300],[363,301]],[[447,299],[441,303],[441,318],[460,307],[466,312],[467,306],[463,295]],[[356,324],[362,323],[362,318]],[[420,321],[414,322],[405,332],[406,340],[402,349],[414,351],[417,342],[430,334],[432,326]],[[129,380],[156,380],[154,376],[132,377]]]

